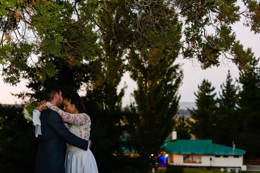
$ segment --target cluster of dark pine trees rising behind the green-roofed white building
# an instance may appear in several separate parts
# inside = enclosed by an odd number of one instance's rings
[[[260,156],[260,68],[259,59],[250,63],[250,69],[239,73],[233,81],[230,72],[221,85],[218,96],[208,80],[198,86],[196,109],[190,110],[190,133],[197,139],[246,150],[244,158]],[[186,131],[187,132],[187,131]]]

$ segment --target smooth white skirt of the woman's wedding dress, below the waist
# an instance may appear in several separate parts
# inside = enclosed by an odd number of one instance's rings
[[[67,149],[65,173],[98,173],[97,163],[91,150],[85,151],[77,148],[77,151],[75,151]]]

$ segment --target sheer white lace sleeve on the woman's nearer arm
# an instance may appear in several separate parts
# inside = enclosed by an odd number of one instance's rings
[[[70,113],[64,112],[63,110],[61,110],[60,108],[58,108],[57,106],[54,106],[53,104],[51,104],[49,102],[47,102],[46,106],[49,109],[58,112],[62,118],[62,121],[65,121],[67,123],[75,124],[75,125],[84,125],[88,121],[88,116],[85,113],[70,114]]]

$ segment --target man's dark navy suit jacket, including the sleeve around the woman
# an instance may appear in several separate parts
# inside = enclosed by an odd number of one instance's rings
[[[38,135],[38,151],[35,163],[35,172],[65,172],[64,144],[65,142],[88,149],[88,141],[78,138],[63,124],[58,112],[46,109],[40,114],[41,132]]]

